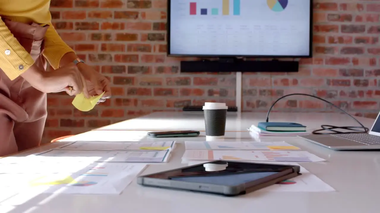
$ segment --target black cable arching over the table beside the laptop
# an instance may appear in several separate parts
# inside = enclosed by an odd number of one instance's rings
[[[367,127],[364,127],[363,124],[361,124],[361,122],[359,122],[358,120],[356,120],[355,117],[351,116],[350,114],[348,114],[346,111],[342,110],[341,108],[337,107],[335,104],[325,100],[325,99],[321,99],[320,97],[317,97],[317,96],[312,96],[312,95],[309,95],[309,94],[304,94],[304,93],[293,93],[293,94],[288,94],[286,96],[282,96],[280,97],[279,99],[277,99],[271,106],[271,108],[269,108],[268,110],[268,113],[266,114],[266,122],[269,122],[269,113],[271,112],[272,108],[274,107],[274,105],[281,99],[285,98],[285,97],[288,97],[288,96],[294,96],[294,95],[299,95],[299,96],[309,96],[309,97],[313,97],[313,98],[316,98],[316,99],[319,99],[319,100],[323,100],[324,102],[326,103],[329,103],[331,104],[333,107],[337,108],[338,110],[342,111],[344,114],[347,114],[348,116],[350,116],[352,119],[354,119],[356,122],[358,122],[358,124],[360,125],[359,127],[337,127],[337,126],[332,126],[332,125],[321,125],[321,129],[318,129],[318,130],[314,130],[312,133],[313,134],[317,134],[317,135],[328,135],[328,134],[342,134],[342,133],[367,133],[369,131],[369,128]],[[334,130],[334,129],[344,129],[344,130],[351,130],[352,132],[340,132],[340,131],[337,131],[337,130]],[[363,129],[363,131],[361,130],[357,130],[357,129]],[[323,130],[327,130],[329,131],[328,133],[321,133],[321,131]]]

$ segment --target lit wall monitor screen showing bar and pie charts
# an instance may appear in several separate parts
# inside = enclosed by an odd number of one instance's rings
[[[311,56],[311,0],[170,0],[168,55]]]

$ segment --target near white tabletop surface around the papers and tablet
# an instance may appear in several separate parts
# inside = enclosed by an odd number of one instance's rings
[[[146,132],[90,131],[15,156],[41,152],[64,145],[64,141],[102,140],[160,141],[168,138],[146,138]],[[197,138],[177,138],[179,142],[168,163],[151,164],[142,174],[174,169],[181,163],[184,140],[204,141],[204,133]],[[334,192],[253,192],[239,197],[222,197],[185,191],[149,188],[131,183],[117,196],[40,194],[22,195],[0,201],[1,213],[377,213],[380,193],[380,154],[375,151],[334,151],[298,137],[268,137],[262,140],[286,142],[307,150],[327,161],[300,163],[307,170],[336,189]],[[249,141],[249,132],[227,132],[227,140]],[[182,142],[181,142],[182,141]],[[9,211],[7,211],[9,210]]]

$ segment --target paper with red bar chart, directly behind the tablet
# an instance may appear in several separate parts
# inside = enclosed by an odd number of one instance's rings
[[[247,151],[247,150],[197,150],[188,149],[182,158],[188,160],[247,160],[317,162],[325,159],[307,151]]]

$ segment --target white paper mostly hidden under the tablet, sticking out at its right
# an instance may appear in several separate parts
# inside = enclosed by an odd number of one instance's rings
[[[195,165],[200,163],[206,163],[207,161],[187,161],[188,165]],[[258,162],[260,163],[260,162]],[[271,162],[271,164],[287,164],[298,165],[294,162]],[[283,181],[281,183],[262,188],[258,191],[273,191],[273,192],[323,192],[323,191],[336,191],[323,180],[319,179],[316,175],[310,173],[305,168],[300,166],[301,174],[290,180]]]

